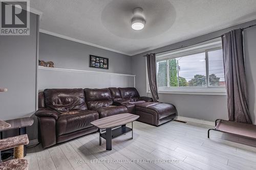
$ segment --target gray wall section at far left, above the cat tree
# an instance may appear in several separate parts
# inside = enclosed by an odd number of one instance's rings
[[[36,110],[37,35],[37,15],[31,13],[29,36],[0,36],[0,86],[8,88],[0,93],[1,119],[31,116]]]

